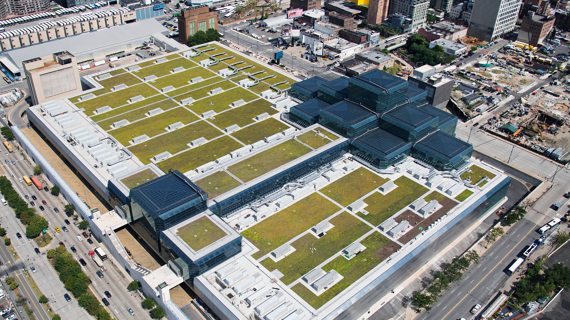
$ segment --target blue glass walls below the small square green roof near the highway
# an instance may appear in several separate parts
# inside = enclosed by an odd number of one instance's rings
[[[178,248],[177,245],[174,245],[168,237],[163,236],[162,241],[164,241],[164,244],[168,247],[169,251],[175,253],[176,256],[180,257],[180,259],[185,262],[185,265],[182,265],[180,261],[177,261],[176,264],[181,268],[188,268],[188,282],[190,282],[190,285],[192,286],[194,286],[194,277],[200,276],[200,274],[214,268],[214,266],[221,264],[223,261],[230,259],[242,251],[242,237],[239,236],[236,239],[223,244],[221,247],[213,249],[206,255],[196,259],[196,261],[193,261],[184,253],[184,251]],[[183,273],[186,274],[186,272]]]

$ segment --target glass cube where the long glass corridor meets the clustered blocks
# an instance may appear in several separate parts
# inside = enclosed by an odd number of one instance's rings
[[[408,157],[412,142],[386,132],[380,128],[356,138],[351,143],[351,153],[379,169],[386,169]]]

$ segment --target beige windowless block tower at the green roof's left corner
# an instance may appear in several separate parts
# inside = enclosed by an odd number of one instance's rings
[[[82,91],[77,60],[67,51],[22,61],[22,64],[33,105]]]

